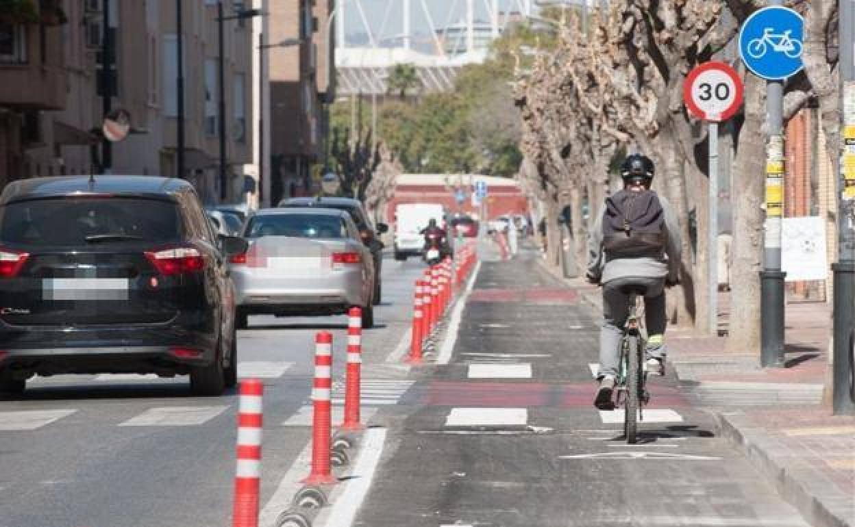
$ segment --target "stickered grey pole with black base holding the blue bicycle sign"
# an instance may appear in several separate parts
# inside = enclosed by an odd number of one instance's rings
[[[781,6],[783,0],[770,0],[769,5]],[[783,134],[784,83],[766,82],[769,138],[766,143],[766,225],[763,250],[763,271],[760,272],[760,360],[764,367],[784,366],[784,307],[786,290],[781,272],[781,223],[783,216],[784,160]]]

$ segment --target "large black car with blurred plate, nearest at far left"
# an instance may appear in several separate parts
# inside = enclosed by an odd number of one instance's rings
[[[189,374],[237,383],[227,256],[191,184],[135,176],[15,181],[0,195],[0,391],[32,375]]]

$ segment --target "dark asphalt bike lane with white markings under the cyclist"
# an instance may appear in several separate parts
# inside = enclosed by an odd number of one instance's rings
[[[640,442],[592,406],[598,314],[534,252],[485,261],[451,363],[414,370],[354,524],[805,526],[693,407],[652,378]]]

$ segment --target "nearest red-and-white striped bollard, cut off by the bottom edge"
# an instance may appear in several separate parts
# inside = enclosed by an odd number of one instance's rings
[[[233,527],[258,526],[262,468],[262,391],[255,378],[240,383],[238,466],[234,475]]]

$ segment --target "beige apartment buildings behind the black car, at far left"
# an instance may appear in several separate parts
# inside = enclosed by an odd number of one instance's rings
[[[109,0],[115,50],[103,74],[103,0],[12,0],[32,9],[0,14],[0,184],[101,172],[105,97],[126,109],[132,132],[109,148],[110,173],[181,176],[205,202],[221,201],[220,123],[225,119],[226,200],[245,200],[251,161],[251,24],[243,2],[221,0],[223,98],[219,111],[217,0]],[[182,8],[185,173],[177,173],[177,10]]]

